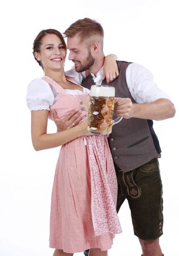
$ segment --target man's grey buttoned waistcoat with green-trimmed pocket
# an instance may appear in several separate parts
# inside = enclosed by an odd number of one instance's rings
[[[116,97],[131,98],[135,103],[126,82],[126,68],[129,64],[126,61],[116,61],[119,68],[119,76],[111,86],[115,87]],[[90,89],[94,84],[90,75],[82,85]],[[107,84],[103,80],[102,84]],[[114,119],[116,115],[114,114]],[[153,158],[160,157],[160,145],[153,130],[153,121],[140,118],[122,119],[121,122],[113,126],[113,131],[109,136],[109,145],[113,160],[120,170],[127,172],[149,162]]]

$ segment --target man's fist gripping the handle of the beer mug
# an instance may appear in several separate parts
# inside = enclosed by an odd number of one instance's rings
[[[116,115],[126,119],[131,118],[134,114],[134,104],[130,98],[118,98],[116,102]]]

